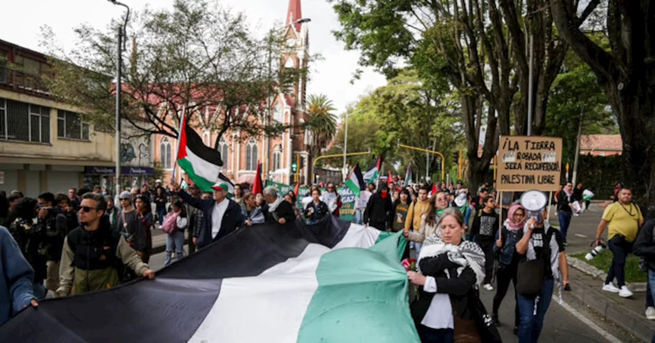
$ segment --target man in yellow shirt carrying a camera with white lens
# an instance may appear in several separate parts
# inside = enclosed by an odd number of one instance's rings
[[[618,191],[618,201],[610,204],[603,212],[603,218],[596,229],[595,243],[601,242],[601,235],[607,225],[607,246],[612,252],[612,264],[607,270],[607,279],[603,291],[618,293],[620,297],[631,297],[632,292],[626,286],[626,257],[632,252],[632,245],[637,237],[644,217],[637,204],[632,203],[632,191],[622,188]],[[616,284],[612,283],[616,277]]]

